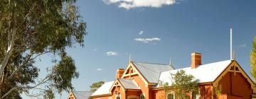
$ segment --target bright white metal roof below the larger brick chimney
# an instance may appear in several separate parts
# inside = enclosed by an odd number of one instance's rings
[[[176,74],[179,70],[186,71],[186,74],[193,75],[196,79],[199,80],[199,83],[212,82],[217,78],[231,63],[230,60],[222,61],[222,62],[214,62],[210,64],[203,64],[198,66],[197,68],[192,69],[191,67],[176,69],[173,71],[165,71],[161,73],[159,81],[163,81],[164,83],[169,83],[171,86],[171,74]],[[159,87],[159,86],[157,86]]]

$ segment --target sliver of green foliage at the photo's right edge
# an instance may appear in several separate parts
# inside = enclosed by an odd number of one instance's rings
[[[254,40],[252,42],[252,51],[250,53],[250,67],[252,74],[252,77],[256,79],[256,36],[254,37]]]

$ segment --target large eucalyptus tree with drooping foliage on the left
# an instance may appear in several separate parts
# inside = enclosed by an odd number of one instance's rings
[[[78,72],[67,47],[83,46],[86,23],[75,6],[76,0],[2,0],[0,3],[0,98],[20,98],[42,83],[53,92],[72,89]],[[8,52],[11,50],[11,52]],[[38,81],[35,61],[51,54],[53,68]],[[58,59],[60,57],[60,59]],[[4,59],[7,59],[5,61]],[[2,63],[7,64],[2,64]],[[49,83],[50,82],[50,83]],[[31,85],[36,86],[31,86]],[[17,87],[15,90],[11,90]],[[6,95],[6,93],[9,95]]]

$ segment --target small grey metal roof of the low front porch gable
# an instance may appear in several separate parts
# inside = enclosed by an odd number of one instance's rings
[[[118,80],[126,89],[139,89],[137,83],[132,79],[119,78]]]

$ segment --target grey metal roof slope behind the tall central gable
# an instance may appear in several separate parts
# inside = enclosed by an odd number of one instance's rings
[[[173,66],[167,64],[133,63],[149,83],[158,83],[161,72],[174,70]]]

